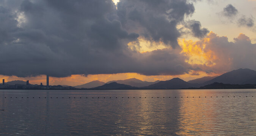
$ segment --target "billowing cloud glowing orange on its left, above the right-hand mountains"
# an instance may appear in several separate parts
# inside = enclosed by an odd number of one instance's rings
[[[245,34],[239,34],[234,42],[210,32],[206,38],[193,42],[183,40],[182,52],[187,61],[206,73],[225,73],[239,68],[256,70],[256,44]]]

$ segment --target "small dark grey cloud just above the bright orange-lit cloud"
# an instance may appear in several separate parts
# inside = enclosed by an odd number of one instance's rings
[[[197,38],[203,38],[210,32],[207,28],[201,28],[201,23],[195,20],[188,21],[188,28],[191,29],[193,36]]]

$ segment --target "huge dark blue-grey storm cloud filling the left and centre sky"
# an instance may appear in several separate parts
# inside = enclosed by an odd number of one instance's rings
[[[176,25],[194,12],[186,0],[2,0],[0,74],[182,74]],[[202,29],[199,31],[202,31]],[[202,32],[201,32],[202,33]],[[173,49],[147,53],[127,44],[139,36]]]

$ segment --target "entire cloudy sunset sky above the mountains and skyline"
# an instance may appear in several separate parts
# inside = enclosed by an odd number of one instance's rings
[[[256,0],[0,0],[0,78],[81,85],[256,70]]]

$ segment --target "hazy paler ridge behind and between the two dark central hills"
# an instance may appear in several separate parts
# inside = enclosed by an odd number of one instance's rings
[[[141,81],[141,80],[136,79],[136,78],[131,78],[131,79],[126,79],[126,80],[113,80],[113,81],[109,81],[107,83],[112,83],[112,82],[121,83],[121,84],[125,84],[125,85],[130,85],[132,87],[146,87],[146,86],[152,85],[154,83],[158,83],[160,81],[157,80],[155,82],[147,82],[147,81]]]

